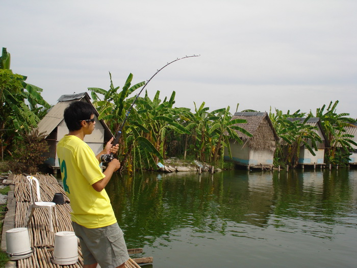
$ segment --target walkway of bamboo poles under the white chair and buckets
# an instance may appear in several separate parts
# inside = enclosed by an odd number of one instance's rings
[[[55,193],[63,193],[65,203],[56,205],[57,224],[53,217],[54,231],[49,231],[48,214],[46,208],[36,208],[28,225],[31,247],[34,252],[31,257],[26,259],[16,260],[16,267],[36,267],[36,268],[80,268],[83,267],[83,256],[81,246],[78,246],[78,262],[71,265],[59,265],[51,261],[54,250],[55,234],[61,231],[73,232],[70,220],[70,205],[68,197],[63,188],[58,183],[57,179],[52,175],[34,175],[40,183],[40,194],[42,201],[51,202]],[[23,226],[25,216],[30,204],[30,183],[24,175],[13,175],[12,181],[10,176],[8,184],[12,184],[8,194],[8,212],[4,220],[3,235],[2,235],[2,250],[6,251],[6,231],[12,228],[20,228]],[[35,189],[34,189],[35,190]],[[8,215],[9,214],[9,215]],[[5,246],[4,246],[5,243]],[[132,253],[140,253],[140,249],[132,250]],[[129,250],[129,253],[130,250]],[[15,263],[15,261],[10,261]],[[15,267],[13,265],[13,267]],[[140,267],[133,259],[125,262],[125,268]],[[102,267],[105,268],[105,267]]]

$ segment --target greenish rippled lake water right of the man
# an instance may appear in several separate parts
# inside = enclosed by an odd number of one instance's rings
[[[106,189],[154,268],[357,267],[357,170],[116,175]]]

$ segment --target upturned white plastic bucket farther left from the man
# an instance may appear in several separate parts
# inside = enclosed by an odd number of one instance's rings
[[[6,231],[6,253],[10,260],[20,260],[31,256],[30,236],[27,228]]]

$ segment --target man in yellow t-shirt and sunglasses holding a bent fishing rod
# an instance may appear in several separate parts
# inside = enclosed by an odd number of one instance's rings
[[[118,226],[108,194],[104,187],[120,162],[113,159],[105,172],[99,166],[100,155],[116,153],[113,138],[95,156],[83,141],[95,128],[95,110],[86,102],[73,102],[64,111],[69,133],[57,145],[63,188],[71,205],[71,221],[81,242],[85,268],[124,267],[129,259],[123,232]]]

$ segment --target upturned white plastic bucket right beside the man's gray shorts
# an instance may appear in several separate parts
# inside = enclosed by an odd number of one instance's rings
[[[74,232],[57,232],[52,262],[60,265],[74,264],[78,261],[78,240]]]

